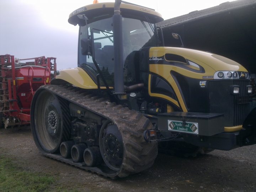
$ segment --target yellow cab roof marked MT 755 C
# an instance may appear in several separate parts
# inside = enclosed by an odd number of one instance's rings
[[[161,14],[146,7],[121,3],[120,10],[123,17],[142,19],[147,16],[151,23],[163,21]],[[81,20],[77,15],[82,14],[85,14],[88,18],[87,23],[112,17],[114,15],[114,2],[96,3],[80,7],[71,12],[68,22],[72,25],[80,24]]]

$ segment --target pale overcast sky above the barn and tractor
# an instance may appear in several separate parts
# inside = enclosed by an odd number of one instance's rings
[[[98,0],[114,2],[114,0]],[[160,12],[166,20],[227,0],[126,0]],[[232,0],[229,0],[232,1]],[[56,57],[57,69],[77,65],[78,26],[68,23],[71,12],[93,0],[0,0],[0,55],[16,58]]]

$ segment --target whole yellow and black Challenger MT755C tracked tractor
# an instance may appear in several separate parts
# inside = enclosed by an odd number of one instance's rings
[[[256,143],[247,70],[213,53],[164,47],[155,24],[162,20],[121,0],[70,14],[80,26],[78,67],[41,86],[31,106],[44,155],[125,177],[153,165],[158,149],[196,155]]]

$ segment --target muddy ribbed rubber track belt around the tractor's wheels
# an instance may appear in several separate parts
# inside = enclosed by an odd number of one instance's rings
[[[102,169],[102,167],[86,167],[84,163],[74,163],[71,159],[64,159],[58,154],[49,154],[41,151],[44,155],[111,178],[116,176],[126,177],[146,170],[153,165],[158,153],[157,144],[146,143],[143,138],[144,130],[153,129],[153,125],[141,113],[116,105],[116,103],[110,103],[93,94],[88,95],[85,90],[72,86],[44,85],[38,90],[41,89],[48,90],[52,94],[61,97],[62,99],[60,100],[62,102],[60,103],[63,103],[63,100],[67,100],[114,122],[122,134],[124,144],[123,163],[117,172],[110,169]],[[64,111],[67,111],[67,109]]]

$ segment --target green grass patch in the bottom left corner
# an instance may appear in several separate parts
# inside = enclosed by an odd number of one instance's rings
[[[0,154],[0,191],[44,191],[54,182],[54,177],[25,171],[14,160]]]

